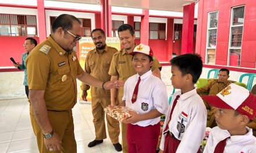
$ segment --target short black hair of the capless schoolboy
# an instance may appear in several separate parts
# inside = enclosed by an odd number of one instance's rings
[[[182,75],[191,74],[193,83],[196,83],[202,73],[202,57],[199,54],[182,54],[170,60],[182,72]]]

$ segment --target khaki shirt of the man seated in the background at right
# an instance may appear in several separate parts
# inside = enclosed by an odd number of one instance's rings
[[[232,83],[232,81],[228,80],[226,82],[219,82],[218,79],[209,79],[207,85],[197,89],[197,93],[208,93],[208,95],[216,95],[221,92],[221,90],[230,85],[230,83]]]

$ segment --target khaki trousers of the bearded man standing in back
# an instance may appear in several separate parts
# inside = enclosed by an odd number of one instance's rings
[[[93,123],[95,128],[95,140],[106,139],[105,112],[104,108],[111,105],[110,97],[91,97]],[[113,144],[119,142],[119,121],[106,115],[108,135]]]

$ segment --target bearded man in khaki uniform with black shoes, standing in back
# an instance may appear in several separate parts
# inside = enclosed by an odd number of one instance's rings
[[[108,74],[108,71],[111,60],[113,54],[118,52],[118,50],[106,45],[105,33],[100,28],[96,28],[91,32],[91,38],[93,38],[93,43],[96,48],[87,54],[84,71],[101,81],[109,81],[111,75]],[[84,101],[87,101],[86,97],[88,89],[90,89],[90,86],[82,83],[81,90],[83,90],[82,98]],[[105,112],[103,109],[110,104],[109,90],[91,87],[91,108],[93,112],[95,140],[91,141],[88,144],[88,147],[94,147],[95,145],[102,143],[103,139],[106,139]],[[108,124],[109,138],[111,139],[115,150],[122,151],[122,145],[118,142],[120,133],[119,121],[106,115],[106,122]]]

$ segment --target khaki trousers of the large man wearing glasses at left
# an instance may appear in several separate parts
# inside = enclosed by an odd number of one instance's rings
[[[44,137],[42,130],[35,120],[32,107],[30,105],[30,120],[37,137],[37,145],[40,153],[76,153],[76,140],[74,139],[74,123],[72,110],[67,111],[47,111],[49,121],[51,122],[54,132],[59,135],[61,139],[61,151],[49,151],[44,144]]]

